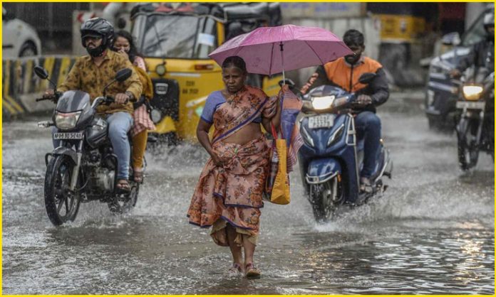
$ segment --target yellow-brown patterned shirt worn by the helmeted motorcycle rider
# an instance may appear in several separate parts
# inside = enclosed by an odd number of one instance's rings
[[[126,91],[132,92],[135,99],[139,99],[143,91],[140,78],[135,72],[133,64],[123,55],[107,50],[103,63],[97,66],[89,55],[85,55],[76,60],[73,68],[66,77],[66,81],[58,87],[58,91],[81,90],[87,92],[91,97],[91,102],[103,95],[103,88],[115,78],[118,70],[129,68],[133,74],[124,82],[114,82],[107,89],[107,95],[115,97],[118,93]],[[100,105],[97,107],[98,113],[113,114],[114,112],[133,113],[133,103],[127,104],[113,103],[110,105]]]

